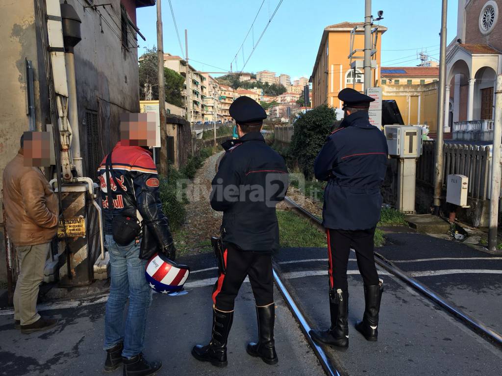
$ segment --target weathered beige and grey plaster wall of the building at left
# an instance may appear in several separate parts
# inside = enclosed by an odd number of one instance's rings
[[[44,10],[40,11],[41,24],[37,2],[18,0],[4,3],[0,4],[0,50],[3,57],[0,87],[3,93],[9,94],[2,95],[0,101],[0,185],[3,184],[6,164],[16,155],[19,139],[28,130],[25,58],[32,60],[34,67],[36,129],[45,131],[45,125],[50,123],[44,63],[47,45],[42,44]],[[98,7],[97,11],[93,8],[84,10],[82,4],[85,3],[76,0],[68,0],[68,3],[82,21],[82,40],[75,47],[78,127],[84,175],[93,176],[96,164],[119,139],[120,113],[139,112],[136,32],[128,25],[129,48],[125,48],[120,27],[120,4],[124,4],[133,22],[136,21],[136,8],[132,0],[110,0],[107,3],[112,3],[113,7]],[[97,120],[93,121],[94,128],[86,122],[86,111]],[[97,133],[90,132],[88,137],[88,129],[97,130]],[[97,141],[98,145],[94,158],[89,158],[91,141]],[[5,260],[4,241],[0,241],[0,260]],[[0,262],[0,281],[5,279],[5,263]]]

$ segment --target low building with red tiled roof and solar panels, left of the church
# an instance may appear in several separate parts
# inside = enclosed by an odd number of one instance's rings
[[[439,67],[382,67],[382,85],[425,85],[439,79]]]

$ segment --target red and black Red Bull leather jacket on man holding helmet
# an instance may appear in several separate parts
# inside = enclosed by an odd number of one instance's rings
[[[112,234],[111,210],[106,184],[106,158],[98,168],[101,187],[101,208],[104,230]],[[114,214],[136,216],[142,221],[142,248],[158,247],[165,250],[173,243],[169,221],[162,210],[159,176],[152,153],[141,146],[122,146],[118,142],[111,152],[112,174],[110,179]],[[114,180],[119,187],[115,185]]]

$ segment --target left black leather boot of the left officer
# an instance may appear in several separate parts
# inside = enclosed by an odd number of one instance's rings
[[[192,348],[192,355],[200,361],[209,361],[217,367],[225,367],[226,343],[228,333],[232,327],[233,311],[222,312],[213,307],[213,330],[211,341],[207,345],[195,345]]]

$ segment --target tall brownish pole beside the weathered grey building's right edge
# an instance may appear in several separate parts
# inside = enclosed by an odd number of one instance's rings
[[[164,87],[164,41],[162,35],[162,6],[157,0],[157,65],[159,78],[159,122],[160,122],[160,173],[167,176],[167,128],[166,92]]]

